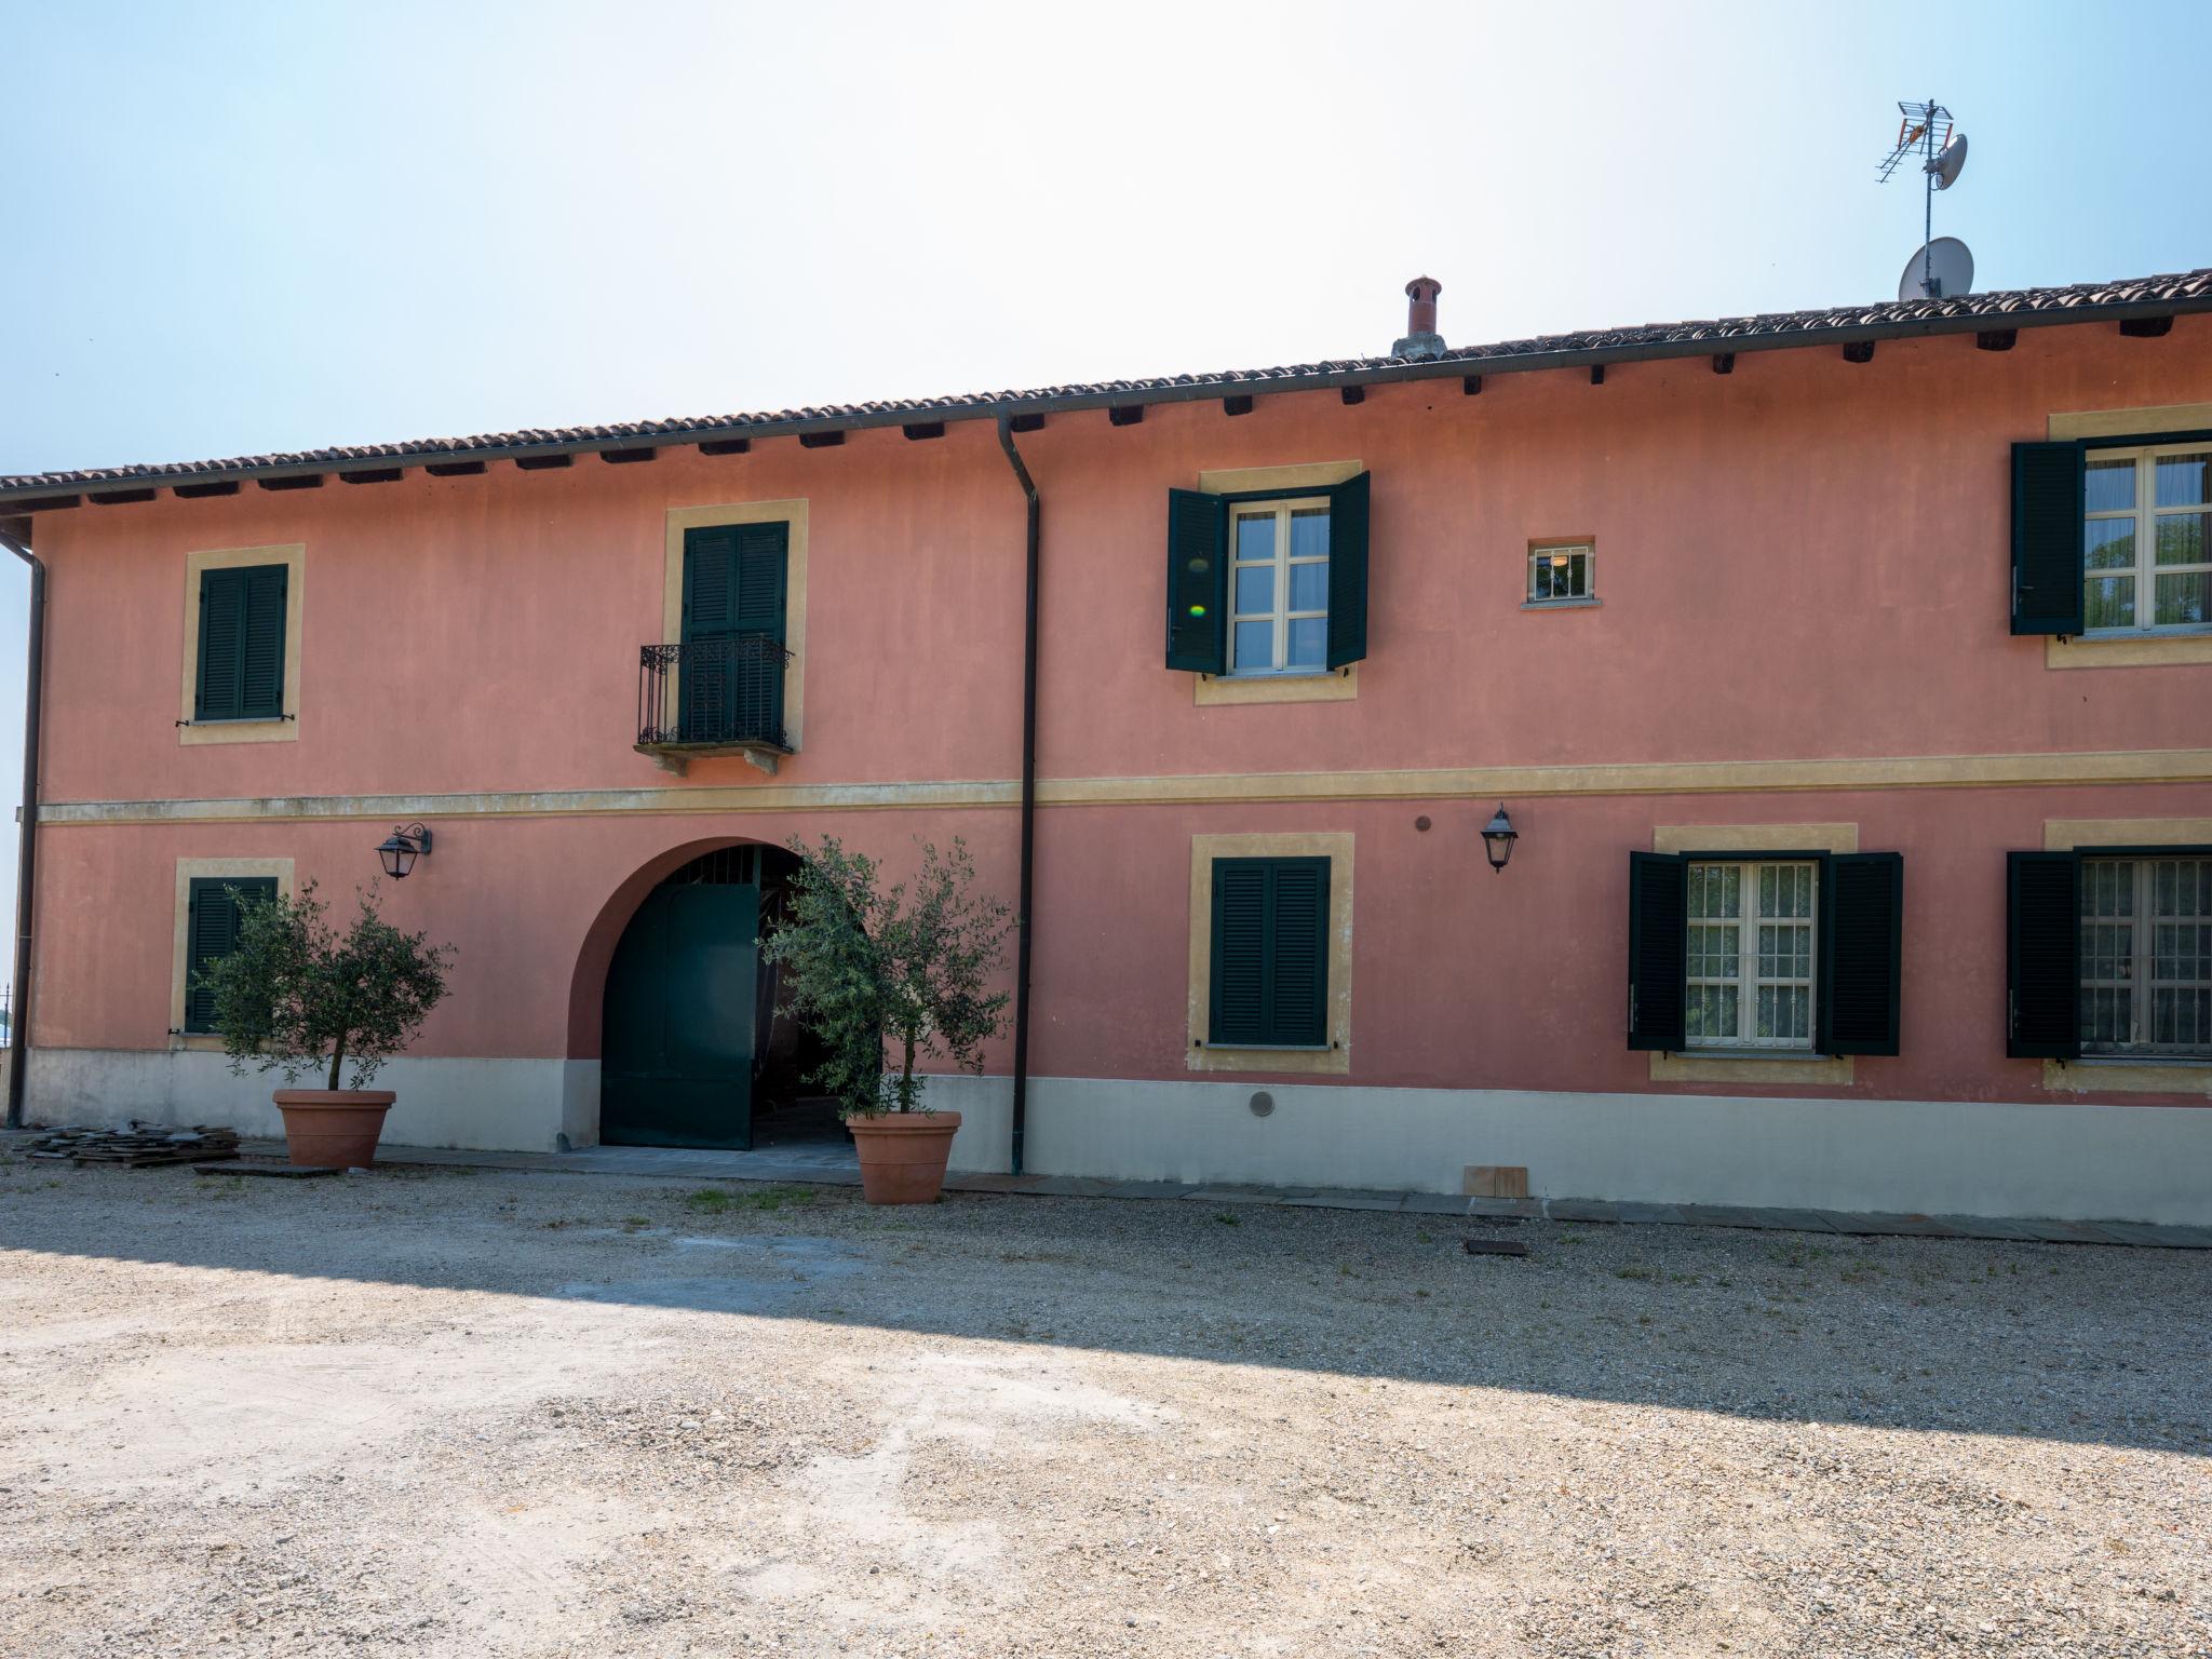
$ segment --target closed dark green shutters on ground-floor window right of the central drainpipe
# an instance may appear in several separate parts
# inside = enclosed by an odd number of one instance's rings
[[[1329,1040],[1329,860],[1214,858],[1208,1042]]]

